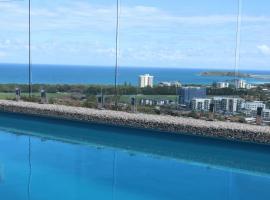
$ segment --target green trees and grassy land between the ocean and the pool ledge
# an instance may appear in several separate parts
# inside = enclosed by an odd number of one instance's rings
[[[137,111],[149,114],[166,114],[172,116],[184,116],[197,119],[212,120],[208,112],[194,112],[185,108],[178,108],[175,104],[167,104],[162,106],[140,105],[141,99],[151,100],[169,100],[176,102],[178,99],[175,87],[154,87],[154,88],[137,88],[128,84],[118,87],[118,106],[115,107],[115,88],[112,85],[67,85],[67,84],[35,84],[33,85],[32,96],[28,96],[28,85],[17,84],[0,84],[0,99],[15,100],[15,88],[21,89],[21,99],[24,101],[40,102],[40,90],[44,89],[47,93],[48,103],[59,105],[80,106],[87,108],[101,108],[97,97],[104,97],[103,108],[133,111],[131,97],[136,96]],[[270,108],[270,84],[260,85],[257,88],[246,90],[235,90],[233,88],[207,88],[209,96],[239,96],[245,100],[261,100]],[[236,121],[244,123],[244,116],[225,116],[215,113],[216,120],[219,121]]]

